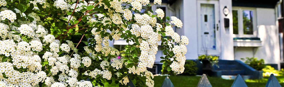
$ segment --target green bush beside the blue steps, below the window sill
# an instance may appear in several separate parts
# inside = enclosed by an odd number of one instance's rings
[[[255,57],[252,58],[247,57],[246,59],[241,58],[241,60],[244,61],[245,64],[249,65],[250,67],[256,70],[262,70],[265,67],[263,59],[257,60],[257,58]]]

